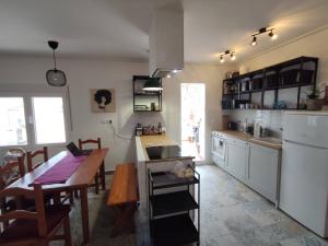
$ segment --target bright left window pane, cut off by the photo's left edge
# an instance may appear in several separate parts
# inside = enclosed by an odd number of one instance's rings
[[[26,144],[23,97],[0,97],[0,147]]]

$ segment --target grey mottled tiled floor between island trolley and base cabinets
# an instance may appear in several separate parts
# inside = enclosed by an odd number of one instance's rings
[[[216,166],[200,166],[201,245],[328,245]]]

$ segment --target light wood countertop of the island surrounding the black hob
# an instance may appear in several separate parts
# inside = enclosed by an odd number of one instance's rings
[[[176,159],[150,160],[145,151],[145,148],[148,147],[179,145],[176,141],[172,140],[167,134],[136,137],[136,144],[137,144],[137,155],[139,162],[144,161],[147,163],[151,163],[151,162],[163,162],[167,160],[172,161],[172,160],[194,159],[194,156],[181,156]]]

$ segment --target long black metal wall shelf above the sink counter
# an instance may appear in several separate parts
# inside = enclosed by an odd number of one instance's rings
[[[284,73],[292,70],[294,70],[294,72],[297,72],[297,75],[295,75],[295,81],[289,81],[286,78],[284,78]],[[239,77],[223,80],[222,108],[234,109],[232,107],[230,108],[229,106],[226,106],[226,104],[229,105],[229,102],[241,99],[242,95],[248,95],[248,98],[244,101],[251,103],[253,94],[261,93],[259,109],[273,109],[273,108],[265,108],[263,104],[265,104],[266,92],[274,91],[273,104],[277,104],[277,102],[279,101],[279,92],[281,90],[297,89],[296,108],[293,109],[300,109],[301,89],[303,86],[313,86],[313,91],[316,90],[317,70],[318,70],[318,58],[303,56],[260,70],[245,73]],[[243,82],[248,83],[249,86],[249,84],[254,83],[254,81],[256,80],[258,83],[261,83],[261,85],[259,85],[257,89],[249,90],[248,87],[246,90],[242,90]],[[224,93],[225,86],[234,86],[236,91],[233,93]],[[286,108],[286,109],[291,109],[291,108]]]

